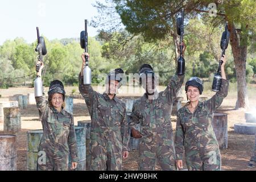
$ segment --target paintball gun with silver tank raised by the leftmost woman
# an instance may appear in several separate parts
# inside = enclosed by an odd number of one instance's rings
[[[44,38],[39,35],[39,27],[36,27],[36,32],[38,34],[38,46],[36,46],[35,51],[38,52],[38,56],[36,56],[36,79],[34,81],[35,87],[35,97],[43,96],[43,82],[42,78],[39,75],[39,69],[41,64],[39,63],[43,61],[43,56],[47,54],[46,44],[44,43]]]

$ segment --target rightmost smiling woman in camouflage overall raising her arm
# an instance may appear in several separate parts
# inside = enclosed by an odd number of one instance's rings
[[[200,102],[203,82],[190,78],[185,84],[189,102],[177,111],[175,151],[177,168],[183,168],[183,151],[189,171],[220,170],[221,154],[212,127],[213,113],[228,95],[229,81],[225,75],[225,56],[221,58],[221,88],[207,101]]]

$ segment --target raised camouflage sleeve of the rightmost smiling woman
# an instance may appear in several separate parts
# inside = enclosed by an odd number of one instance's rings
[[[221,105],[224,98],[228,95],[229,81],[222,79],[220,91],[218,91],[212,98],[205,101],[205,106],[208,108],[209,113],[214,111]]]

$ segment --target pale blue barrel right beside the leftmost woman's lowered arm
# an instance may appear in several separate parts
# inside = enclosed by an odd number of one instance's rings
[[[78,150],[79,162],[77,164],[76,171],[85,171],[86,169],[86,139],[85,139],[85,128],[75,126],[76,131],[76,142]],[[71,156],[69,155],[68,169],[71,169]]]

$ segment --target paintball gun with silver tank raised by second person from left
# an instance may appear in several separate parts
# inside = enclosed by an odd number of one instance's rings
[[[88,52],[88,34],[87,34],[87,19],[85,19],[85,30],[80,33],[80,46],[85,52]],[[84,67],[84,85],[92,83],[92,70],[89,68],[88,56],[85,55]]]

